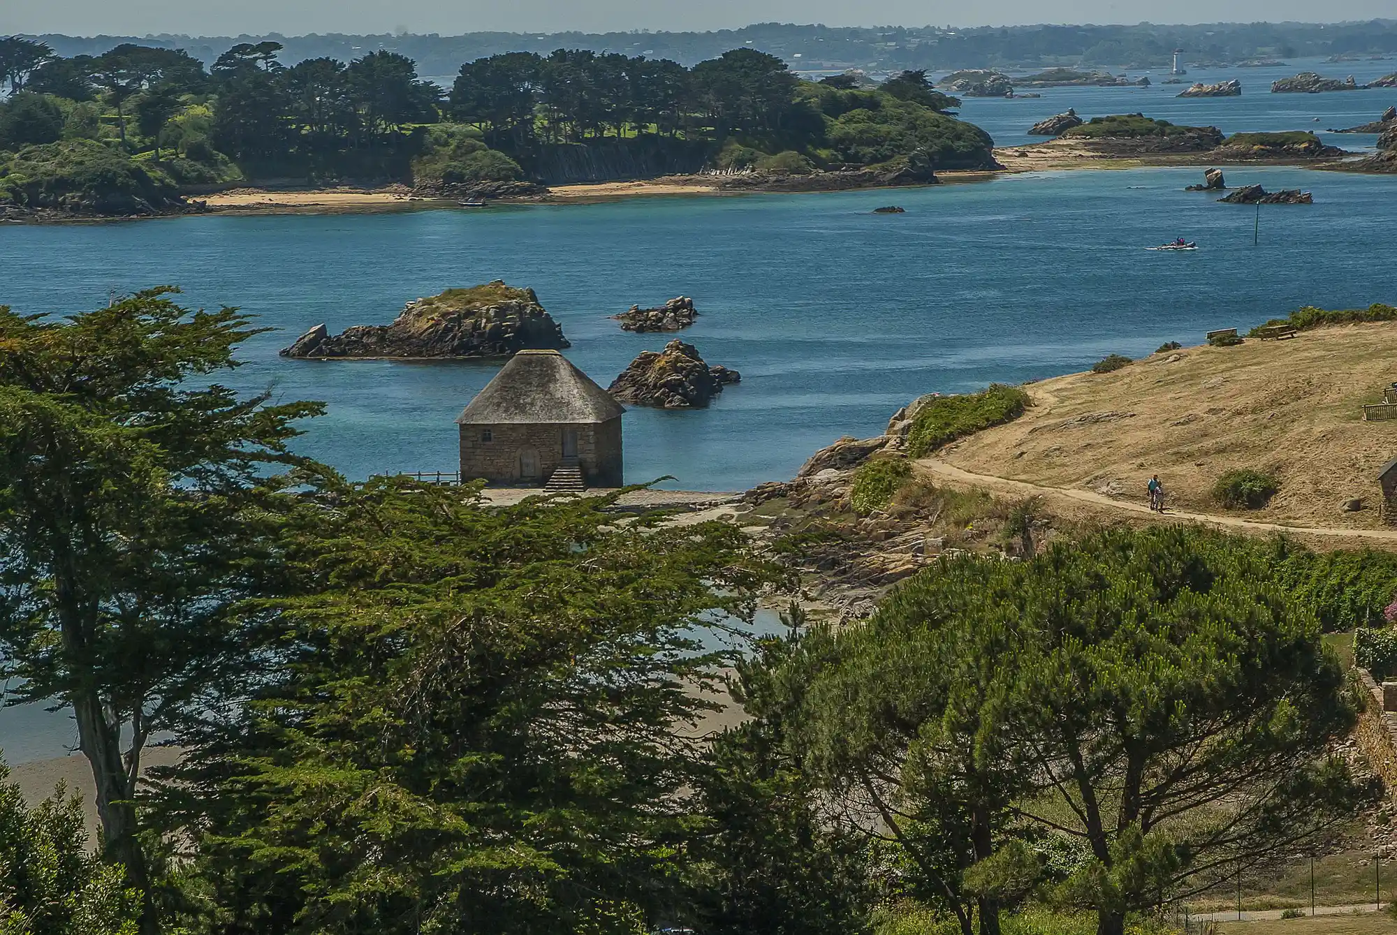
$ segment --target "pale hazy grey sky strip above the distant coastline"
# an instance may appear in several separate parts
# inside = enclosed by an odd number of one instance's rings
[[[610,32],[1031,22],[1301,22],[1397,18],[1397,0],[0,0],[0,35]]]

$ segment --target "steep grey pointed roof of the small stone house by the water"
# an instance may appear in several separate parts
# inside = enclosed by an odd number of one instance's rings
[[[455,420],[461,426],[602,423],[624,410],[556,350],[521,350]]]

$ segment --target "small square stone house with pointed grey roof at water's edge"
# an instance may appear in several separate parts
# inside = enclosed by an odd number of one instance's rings
[[[556,350],[521,350],[455,420],[461,480],[557,490],[620,487],[624,412]]]

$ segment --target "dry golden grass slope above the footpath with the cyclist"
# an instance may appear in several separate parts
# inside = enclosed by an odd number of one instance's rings
[[[1028,387],[1018,420],[942,449],[977,474],[1140,502],[1158,473],[1169,505],[1260,522],[1383,529],[1379,470],[1397,456],[1397,421],[1363,421],[1397,380],[1397,322],[1157,353],[1109,374]],[[1273,473],[1280,493],[1227,511],[1211,488],[1227,470]],[[1344,502],[1362,498],[1363,509]]]

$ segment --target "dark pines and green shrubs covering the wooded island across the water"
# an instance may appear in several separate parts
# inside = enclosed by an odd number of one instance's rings
[[[197,209],[186,200],[263,180],[495,198],[698,172],[749,188],[834,188],[997,167],[989,135],[958,120],[960,102],[925,71],[877,87],[813,82],[753,49],[692,68],[504,53],[461,66],[443,94],[391,52],[286,67],[279,43],[244,42],[205,70],[165,47],[64,59],[10,42],[0,209],[15,218]]]

